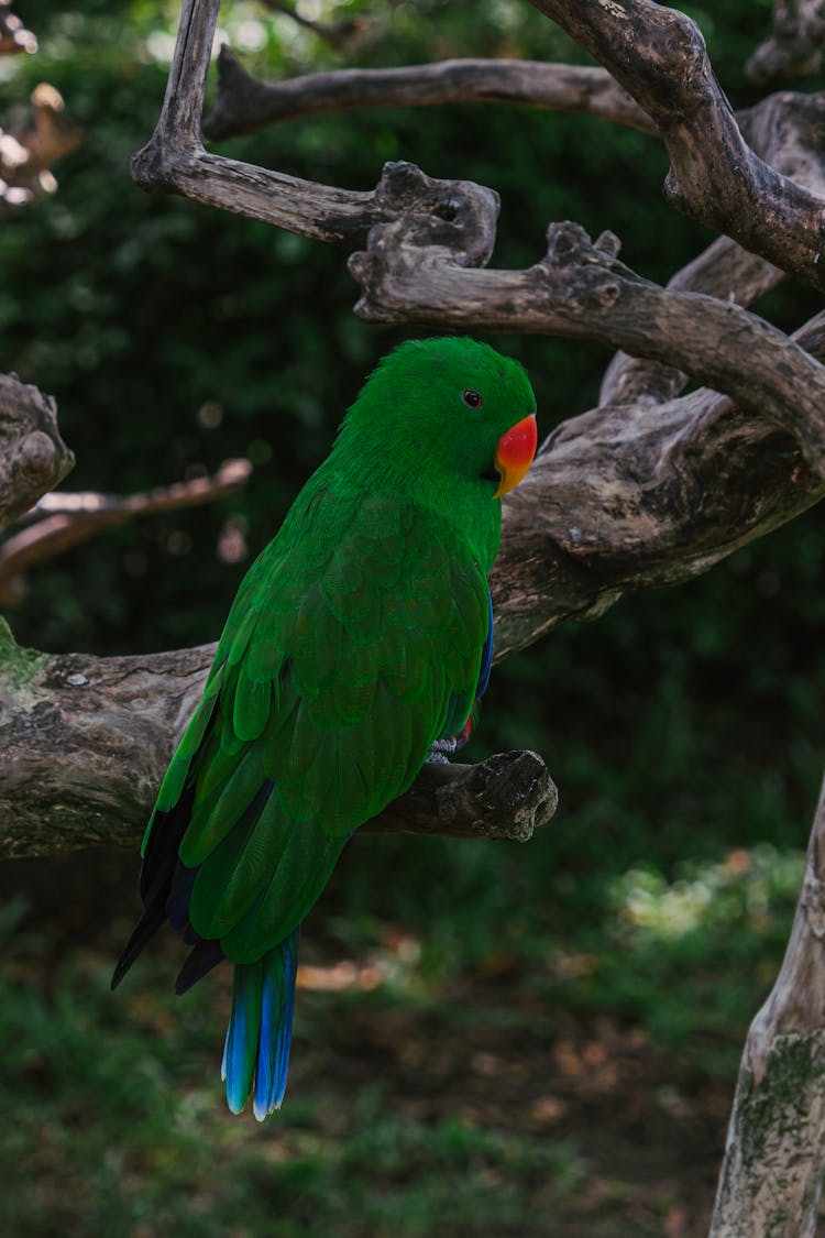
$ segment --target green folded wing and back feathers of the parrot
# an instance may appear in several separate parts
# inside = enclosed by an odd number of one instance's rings
[[[309,494],[245,578],[158,796],[193,791],[189,920],[251,962],[472,706],[486,578],[434,514]],[[151,825],[150,825],[151,828]]]

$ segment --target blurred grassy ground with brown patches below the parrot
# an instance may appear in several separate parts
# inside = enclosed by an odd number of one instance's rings
[[[172,997],[169,935],[109,992],[132,858],[9,864],[4,1233],[699,1236],[799,872],[771,848],[670,884],[632,870],[600,922],[559,937],[527,906],[496,950],[460,909],[429,933],[354,920],[339,885],[306,933],[284,1109],[259,1125],[220,1094],[228,976]]]

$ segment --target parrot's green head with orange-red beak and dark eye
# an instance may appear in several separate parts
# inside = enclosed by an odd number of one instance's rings
[[[524,369],[466,337],[419,339],[385,357],[350,409],[343,437],[376,469],[447,493],[518,485],[536,454],[536,396]]]

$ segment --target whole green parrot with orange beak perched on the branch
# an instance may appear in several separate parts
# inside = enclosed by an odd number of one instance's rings
[[[259,1120],[281,1106],[298,928],[344,844],[469,734],[498,499],[534,453],[517,361],[466,338],[402,344],[241,583],[146,828],[145,911],[111,982],[166,920],[190,947],[176,992],[235,964],[235,1113],[250,1093]]]

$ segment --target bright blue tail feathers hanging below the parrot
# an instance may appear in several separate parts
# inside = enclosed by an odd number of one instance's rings
[[[233,1013],[220,1071],[233,1113],[240,1113],[250,1092],[259,1122],[281,1107],[289,1067],[297,969],[297,928],[257,963],[235,964]]]

